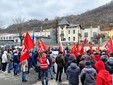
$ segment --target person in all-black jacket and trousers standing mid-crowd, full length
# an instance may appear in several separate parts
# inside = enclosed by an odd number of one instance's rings
[[[59,52],[59,55],[56,58],[56,64],[57,64],[57,74],[56,74],[56,81],[59,80],[61,82],[63,67],[65,64],[62,52]]]

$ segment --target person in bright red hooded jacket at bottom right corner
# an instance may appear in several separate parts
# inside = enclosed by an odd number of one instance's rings
[[[112,85],[112,76],[105,69],[104,63],[102,61],[98,61],[95,64],[95,68],[98,71],[96,75],[96,85]]]

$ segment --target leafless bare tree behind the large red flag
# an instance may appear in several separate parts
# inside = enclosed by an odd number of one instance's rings
[[[18,37],[20,38],[20,45],[22,46],[22,42],[23,42],[23,33],[22,33],[22,28],[24,27],[24,21],[25,21],[25,18],[22,18],[22,17],[18,17],[18,18],[15,18],[13,19],[13,22],[14,24],[17,25],[17,31],[18,31]]]

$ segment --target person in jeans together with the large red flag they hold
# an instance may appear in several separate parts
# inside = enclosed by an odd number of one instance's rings
[[[33,40],[31,39],[29,33],[26,32],[20,56],[20,64],[22,67],[22,82],[27,82],[26,80],[26,67],[28,66],[27,59],[29,58],[29,50],[34,46],[35,44]]]

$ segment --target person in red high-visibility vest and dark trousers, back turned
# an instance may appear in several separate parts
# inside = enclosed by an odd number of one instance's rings
[[[46,54],[43,53],[42,56],[39,58],[40,62],[40,71],[41,71],[41,81],[42,85],[44,84],[44,78],[46,79],[46,85],[48,85],[48,65],[49,60],[46,58]]]

